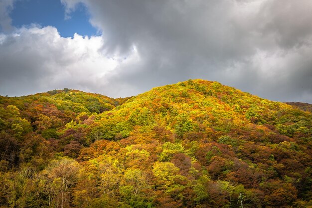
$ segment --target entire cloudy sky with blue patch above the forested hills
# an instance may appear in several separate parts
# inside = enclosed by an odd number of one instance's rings
[[[312,103],[312,0],[0,0],[0,95],[188,79]]]

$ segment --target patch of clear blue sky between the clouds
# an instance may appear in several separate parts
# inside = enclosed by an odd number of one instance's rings
[[[63,37],[80,35],[96,35],[97,29],[89,22],[89,13],[84,4],[79,3],[76,10],[65,19],[64,5],[60,0],[18,0],[10,13],[12,25],[21,27],[32,23],[44,26],[54,26]]]

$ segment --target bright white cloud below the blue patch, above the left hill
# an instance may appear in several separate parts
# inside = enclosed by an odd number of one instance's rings
[[[100,91],[117,61],[99,49],[99,36],[61,37],[55,27],[21,28],[0,36],[2,95],[20,96],[65,87]]]

